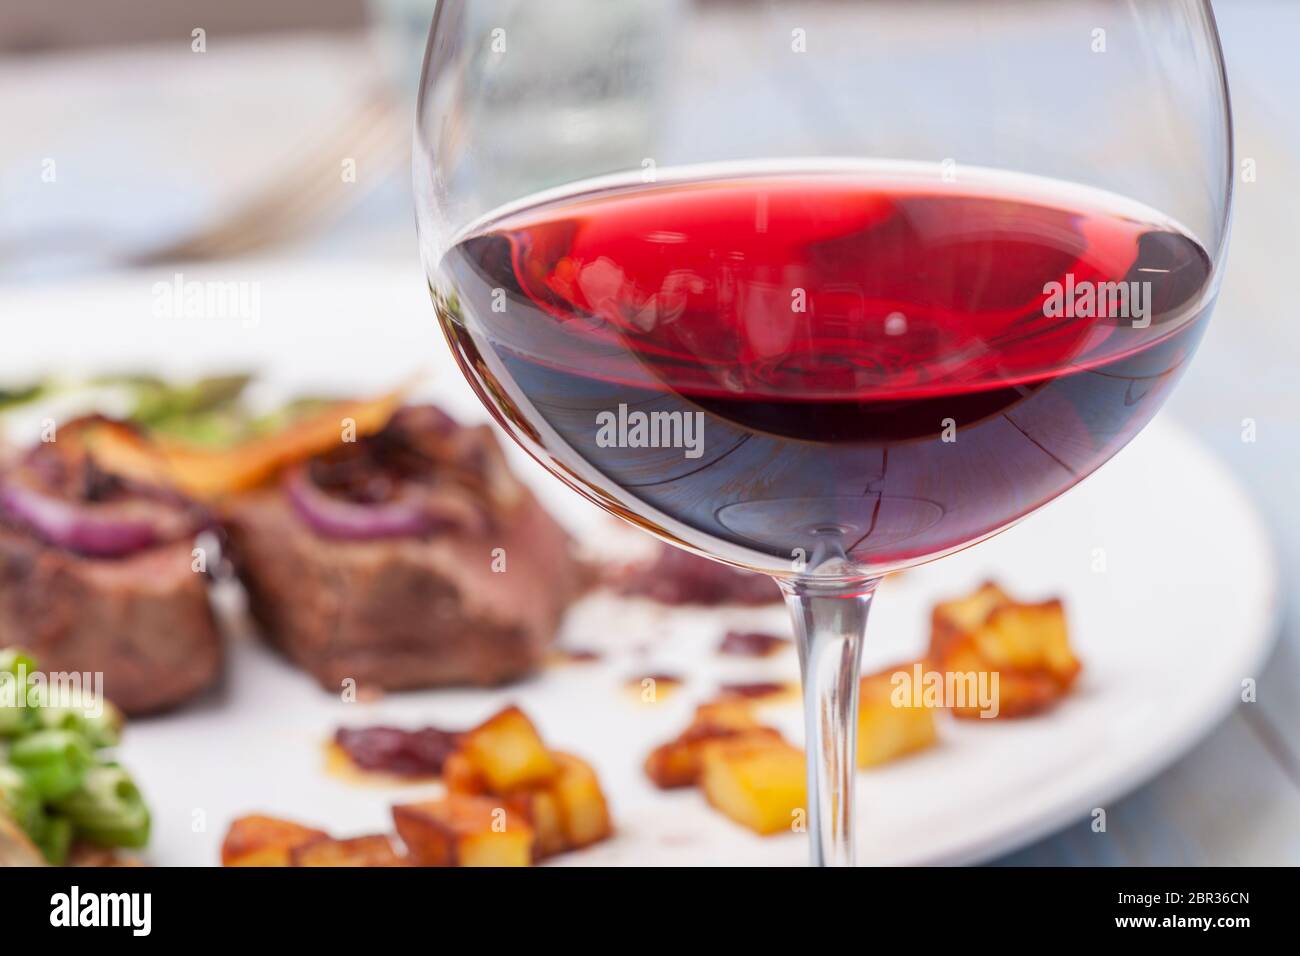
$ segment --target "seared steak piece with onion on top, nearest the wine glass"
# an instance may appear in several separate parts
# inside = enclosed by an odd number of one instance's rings
[[[585,584],[491,432],[434,408],[403,410],[224,519],[266,639],[330,691],[520,678]]]

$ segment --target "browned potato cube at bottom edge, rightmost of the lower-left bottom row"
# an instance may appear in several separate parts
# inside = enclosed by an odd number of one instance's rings
[[[411,860],[421,866],[528,866],[533,827],[490,797],[451,793],[393,808]]]

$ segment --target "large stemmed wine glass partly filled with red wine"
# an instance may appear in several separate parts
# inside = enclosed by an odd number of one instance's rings
[[[1230,126],[1205,0],[438,4],[438,321],[560,480],[781,585],[815,864],[853,862],[878,581],[1160,408],[1218,289]]]

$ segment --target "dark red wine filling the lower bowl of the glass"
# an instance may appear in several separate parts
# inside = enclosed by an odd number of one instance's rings
[[[936,557],[1122,447],[1213,298],[1186,230],[1110,194],[911,166],[621,182],[443,258],[489,407],[604,507],[774,572]]]

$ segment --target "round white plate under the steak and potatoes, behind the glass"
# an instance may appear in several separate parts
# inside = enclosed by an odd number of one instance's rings
[[[413,268],[243,267],[186,278],[260,284],[256,321],[166,319],[136,274],[0,295],[10,347],[0,378],[38,371],[148,367],[177,375],[256,365],[276,390],[381,389],[433,372],[430,394],[484,420],[433,325]],[[23,321],[23,320],[27,321]],[[512,449],[512,451],[516,451]],[[608,540],[608,519],[519,453],[515,463],[580,535]],[[633,541],[634,544],[634,541]],[[1104,568],[1104,570],[1098,570]],[[875,864],[974,862],[1020,847],[1106,806],[1186,752],[1239,700],[1274,636],[1277,571],[1264,528],[1225,470],[1158,420],[1095,477],[1005,535],[887,581],[872,611],[866,666],[920,652],[935,600],[997,578],[1013,594],[1066,601],[1086,670],[1054,711],[1017,722],[945,719],[940,747],[859,774],[859,856]],[[732,627],[788,632],[779,606],[666,610],[592,598],[564,641],[601,648],[599,663],[562,665],[500,691],[429,691],[344,704],[235,633],[222,687],[164,718],[138,721],[122,760],[155,812],[151,860],[217,860],[229,821],[255,810],[337,834],[389,827],[389,806],[436,786],[356,786],[322,770],[339,724],[456,727],[507,701],[552,745],[594,762],[619,835],[568,864],[801,864],[798,836],[760,839],[698,793],[656,791],[645,753],[676,734],[720,682],[793,678],[793,653],[724,658]],[[624,682],[650,672],[685,685],[644,704]],[[801,736],[796,705],[768,711]]]

